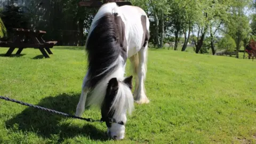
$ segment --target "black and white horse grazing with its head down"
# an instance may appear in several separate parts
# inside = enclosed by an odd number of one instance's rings
[[[149,103],[145,89],[148,40],[149,19],[137,6],[103,4],[91,23],[85,43],[88,67],[75,115],[81,116],[85,106],[100,106],[113,139],[124,138],[126,112],[132,113],[134,102]],[[133,76],[124,76],[127,59],[135,75],[134,93]],[[117,123],[111,123],[111,118]]]

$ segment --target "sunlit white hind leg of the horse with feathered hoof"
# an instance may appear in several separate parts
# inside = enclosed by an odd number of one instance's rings
[[[137,75],[138,75],[138,82],[136,83],[137,90],[134,91],[135,94],[135,102],[142,104],[142,103],[149,103],[149,100],[146,95],[145,89],[145,79],[147,73],[147,51],[148,45],[145,47],[141,47],[141,50],[138,52],[139,54],[139,66],[137,68]]]

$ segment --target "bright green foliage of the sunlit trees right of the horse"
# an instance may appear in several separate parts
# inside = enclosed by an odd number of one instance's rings
[[[152,17],[159,17],[159,12],[164,11],[164,29],[165,36],[175,36],[176,39],[180,35],[187,34],[188,30],[193,35],[196,35],[195,42],[197,43],[197,48],[199,51],[203,52],[207,44],[205,42],[205,36],[211,34],[211,41],[213,42],[212,50],[214,50],[214,42],[217,41],[216,35],[220,33],[220,28],[229,28],[230,31],[236,31],[235,34],[229,31],[234,39],[237,39],[237,45],[241,47],[243,39],[249,33],[247,28],[247,20],[238,20],[236,22],[237,13],[234,13],[236,9],[243,9],[244,7],[249,7],[252,4],[251,0],[238,1],[238,0],[227,0],[227,1],[150,1],[150,0],[140,0],[132,1],[134,5],[142,7],[146,10],[148,15]],[[156,16],[154,13],[157,13]],[[242,18],[243,19],[243,18]],[[151,37],[154,33],[158,33],[155,28],[155,21],[150,23]],[[160,20],[159,20],[160,21]],[[241,21],[243,23],[241,23]],[[223,25],[223,23],[228,23],[228,25]],[[239,23],[239,24],[237,24]],[[244,25],[245,24],[245,25]],[[236,25],[236,26],[234,26]],[[253,23],[252,23],[253,25]],[[240,26],[240,28],[239,28]],[[244,27],[244,28],[241,28]],[[160,27],[160,26],[158,26]],[[193,28],[192,30],[189,28]],[[231,30],[232,29],[232,30]],[[240,29],[240,30],[239,30]],[[225,33],[226,34],[226,33]],[[160,35],[160,34],[159,34]],[[239,35],[239,36],[238,36]],[[237,37],[237,38],[236,38]],[[168,38],[167,38],[168,39]],[[202,43],[201,43],[202,42]],[[207,42],[205,42],[207,43]],[[238,49],[239,49],[238,47]],[[205,51],[206,52],[206,51]]]

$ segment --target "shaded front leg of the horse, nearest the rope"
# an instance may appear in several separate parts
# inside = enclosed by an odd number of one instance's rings
[[[88,76],[86,74],[82,84],[81,96],[76,106],[76,114],[75,114],[76,116],[82,116],[82,114],[84,113],[86,97],[87,97],[87,93],[89,92],[89,85],[88,85],[87,79],[88,79]]]

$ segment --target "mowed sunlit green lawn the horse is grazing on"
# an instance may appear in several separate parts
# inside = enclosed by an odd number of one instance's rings
[[[0,95],[75,114],[86,73],[82,47],[54,47],[50,59],[36,49],[11,58],[6,51]],[[256,61],[150,49],[146,90],[150,103],[135,104],[121,141],[106,137],[105,123],[0,100],[0,143],[256,143]],[[99,119],[100,110],[83,117]]]

